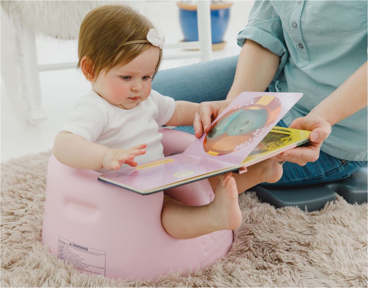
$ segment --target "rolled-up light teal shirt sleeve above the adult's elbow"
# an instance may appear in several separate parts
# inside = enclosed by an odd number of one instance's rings
[[[274,77],[275,81],[284,68],[289,51],[286,48],[280,17],[270,1],[255,1],[247,27],[238,34],[238,45],[243,47],[247,39],[280,56],[279,68]]]

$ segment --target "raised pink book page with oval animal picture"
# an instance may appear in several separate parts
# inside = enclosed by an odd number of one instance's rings
[[[243,92],[184,151],[240,164],[302,97],[302,93]]]

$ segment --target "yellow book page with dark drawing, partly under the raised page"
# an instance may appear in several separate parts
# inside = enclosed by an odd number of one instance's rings
[[[288,146],[293,146],[295,144],[297,146],[301,145],[308,141],[309,133],[310,131],[275,126],[253,149],[248,157],[244,159],[241,166],[262,159]]]

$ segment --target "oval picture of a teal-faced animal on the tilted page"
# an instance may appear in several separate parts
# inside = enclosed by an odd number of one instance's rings
[[[233,153],[252,142],[256,131],[276,120],[280,100],[271,95],[255,97],[225,113],[205,136],[203,149],[213,156]]]

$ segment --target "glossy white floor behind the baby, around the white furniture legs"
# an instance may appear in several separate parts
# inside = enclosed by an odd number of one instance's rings
[[[236,55],[240,52],[236,37],[248,21],[254,1],[233,1],[230,22],[224,40],[224,50],[214,51],[213,58]],[[164,32],[167,43],[183,40],[176,1],[140,1],[140,7]],[[47,36],[37,38],[39,64],[77,61],[77,40],[56,40]],[[163,61],[161,69],[189,65],[199,58]],[[4,71],[1,71],[4,73]],[[10,95],[1,81],[1,162],[12,157],[38,153],[51,149],[54,137],[67,120],[68,111],[75,100],[90,89],[89,83],[75,69],[40,72],[42,106],[47,120],[28,124],[26,116],[12,106]],[[20,79],[21,81],[21,79]]]

